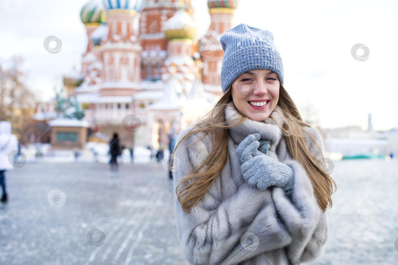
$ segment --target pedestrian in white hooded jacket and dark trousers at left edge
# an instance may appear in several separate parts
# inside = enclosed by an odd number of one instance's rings
[[[11,124],[7,121],[0,122],[0,185],[3,191],[1,202],[7,202],[7,190],[5,187],[5,171],[13,169],[13,162],[9,160],[11,152],[17,151],[14,156],[19,154],[18,139],[11,133]]]

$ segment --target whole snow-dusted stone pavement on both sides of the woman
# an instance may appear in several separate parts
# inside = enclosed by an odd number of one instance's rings
[[[330,239],[313,264],[398,264],[398,160],[335,161]],[[28,163],[7,172],[0,264],[186,264],[162,164]]]

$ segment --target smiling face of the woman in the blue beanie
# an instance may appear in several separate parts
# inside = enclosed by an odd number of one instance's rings
[[[246,72],[232,83],[233,104],[249,119],[264,121],[278,103],[279,86],[277,74],[270,70]]]

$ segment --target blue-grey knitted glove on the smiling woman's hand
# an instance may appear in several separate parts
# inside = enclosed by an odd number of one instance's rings
[[[243,178],[249,185],[260,190],[276,186],[290,191],[294,183],[293,170],[284,163],[259,152],[257,150],[260,146],[259,139],[258,133],[248,135],[236,148],[236,154],[242,162],[240,169]],[[262,151],[269,148],[269,141],[264,142],[261,146]],[[268,153],[268,150],[266,152]]]

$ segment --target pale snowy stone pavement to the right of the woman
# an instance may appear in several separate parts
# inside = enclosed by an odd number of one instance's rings
[[[397,170],[398,159],[334,162],[329,242],[314,264],[398,264]]]

